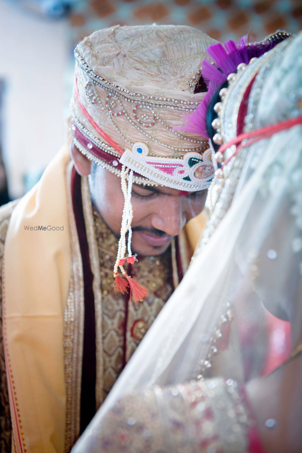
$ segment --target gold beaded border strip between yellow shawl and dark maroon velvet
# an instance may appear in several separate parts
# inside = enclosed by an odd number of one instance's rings
[[[80,434],[80,392],[82,376],[84,285],[80,244],[71,197],[71,172],[66,169],[69,224],[71,230],[71,279],[64,314],[64,364],[66,390],[66,426],[64,452],[67,453]]]

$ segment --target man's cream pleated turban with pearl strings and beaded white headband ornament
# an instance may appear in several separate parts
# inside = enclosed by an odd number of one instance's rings
[[[81,41],[71,99],[76,146],[113,173],[133,170],[135,183],[208,188],[208,141],[179,128],[203,99],[196,86],[214,42],[178,25],[114,26]]]

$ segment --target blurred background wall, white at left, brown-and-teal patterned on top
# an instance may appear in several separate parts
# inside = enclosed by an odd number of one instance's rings
[[[302,0],[0,0],[0,204],[31,188],[64,143],[76,43],[114,24],[154,22],[261,40],[297,33]]]

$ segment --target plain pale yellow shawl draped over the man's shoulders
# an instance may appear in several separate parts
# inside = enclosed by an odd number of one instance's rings
[[[13,453],[62,453],[66,441],[63,333],[72,272],[69,161],[65,147],[14,208],[5,239],[3,334]],[[37,226],[63,229],[30,230]],[[184,253],[189,244],[194,246],[202,226],[202,217],[193,219],[180,244]]]

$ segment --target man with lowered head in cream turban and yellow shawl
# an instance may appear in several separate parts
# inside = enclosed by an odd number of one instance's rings
[[[212,42],[148,25],[77,46],[71,145],[0,210],[2,451],[70,451],[186,271],[213,167],[179,128]]]

